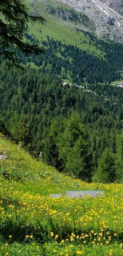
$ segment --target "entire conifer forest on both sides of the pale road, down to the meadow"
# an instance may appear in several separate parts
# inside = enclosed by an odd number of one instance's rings
[[[71,10],[63,10],[57,8],[57,15],[70,18]],[[85,181],[122,181],[123,90],[112,82],[122,79],[123,44],[76,28],[77,47],[49,35],[43,40],[39,26],[38,37],[30,35],[29,26],[25,42],[45,52],[26,55],[13,46],[24,70],[1,63],[0,131],[60,172]]]

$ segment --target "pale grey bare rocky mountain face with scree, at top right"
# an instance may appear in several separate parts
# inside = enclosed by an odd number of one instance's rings
[[[39,0],[46,2],[46,0]],[[123,0],[51,0],[85,14],[95,24],[95,32],[118,42],[123,41],[123,16],[110,7],[123,4]],[[107,6],[108,5],[108,6]],[[113,7],[112,7],[113,8]]]

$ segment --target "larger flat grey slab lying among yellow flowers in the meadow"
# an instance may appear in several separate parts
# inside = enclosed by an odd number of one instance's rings
[[[85,190],[85,191],[66,191],[65,196],[69,196],[71,198],[82,198],[85,196],[89,197],[98,197],[103,196],[103,190]]]

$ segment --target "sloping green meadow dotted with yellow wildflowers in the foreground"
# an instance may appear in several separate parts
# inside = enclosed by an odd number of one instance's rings
[[[123,255],[123,184],[59,174],[0,137],[0,255]],[[104,190],[98,198],[49,197]]]

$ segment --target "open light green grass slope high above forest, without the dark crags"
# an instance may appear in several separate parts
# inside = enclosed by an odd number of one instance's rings
[[[30,0],[25,0],[25,3],[32,11],[33,8],[31,7]],[[47,1],[47,3],[42,3],[35,1],[34,6],[38,8],[39,13],[41,16],[43,16],[46,19],[46,26],[40,26],[38,23],[35,24],[33,27],[31,24],[29,25],[29,33],[36,36],[36,38],[39,40],[47,40],[47,35],[49,37],[53,37],[55,40],[61,40],[61,42],[65,44],[71,44],[76,45],[80,49],[88,50],[88,52],[91,54],[95,51],[94,55],[98,56],[101,55],[101,51],[99,49],[96,49],[94,46],[94,42],[92,45],[89,45],[89,37],[85,37],[83,32],[76,31],[76,28],[74,26],[79,25],[79,23],[76,25],[75,22],[69,20],[69,26],[67,26],[66,23],[64,23],[63,20],[60,20],[56,15],[49,15],[47,11],[45,10],[46,5],[50,3],[50,1]],[[55,5],[55,3],[51,2],[51,6],[54,8],[57,8],[58,6]],[[64,8],[70,9],[70,7],[65,6]],[[91,27],[91,24],[89,24]],[[42,34],[40,33],[40,27]],[[84,40],[86,42],[84,42]],[[101,57],[104,56],[104,53],[101,55]]]

